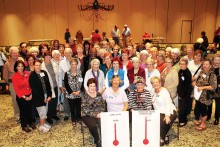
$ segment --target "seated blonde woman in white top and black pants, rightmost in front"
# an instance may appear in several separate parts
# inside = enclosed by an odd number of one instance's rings
[[[154,91],[152,94],[153,106],[155,110],[160,111],[160,146],[169,143],[167,133],[177,117],[176,107],[168,90],[161,86],[159,77],[152,77],[151,84]]]

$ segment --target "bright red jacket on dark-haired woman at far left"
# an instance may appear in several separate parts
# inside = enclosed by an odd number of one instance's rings
[[[24,75],[16,72],[12,77],[12,84],[16,95],[21,98],[24,95],[31,94],[31,87],[29,85],[30,72],[24,71]]]

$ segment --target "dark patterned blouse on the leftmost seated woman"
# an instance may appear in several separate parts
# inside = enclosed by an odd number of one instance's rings
[[[102,95],[97,93],[95,98],[88,95],[85,92],[82,97],[82,116],[96,117],[97,114],[105,111],[105,103],[102,99]]]

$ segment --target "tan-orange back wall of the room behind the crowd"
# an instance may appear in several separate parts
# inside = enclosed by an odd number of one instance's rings
[[[78,29],[89,37],[93,29],[110,31],[117,24],[122,31],[128,24],[133,42],[141,42],[144,32],[166,38],[165,42],[181,41],[182,20],[193,21],[192,41],[206,31],[209,41],[220,26],[219,0],[99,0],[114,4],[108,20],[85,21],[77,10],[79,3],[93,0],[0,0],[0,45],[17,45],[31,39],[52,38],[64,42],[64,32],[72,36]]]

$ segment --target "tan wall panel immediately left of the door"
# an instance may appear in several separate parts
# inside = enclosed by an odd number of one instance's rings
[[[178,43],[181,35],[181,1],[169,0],[166,41]]]

